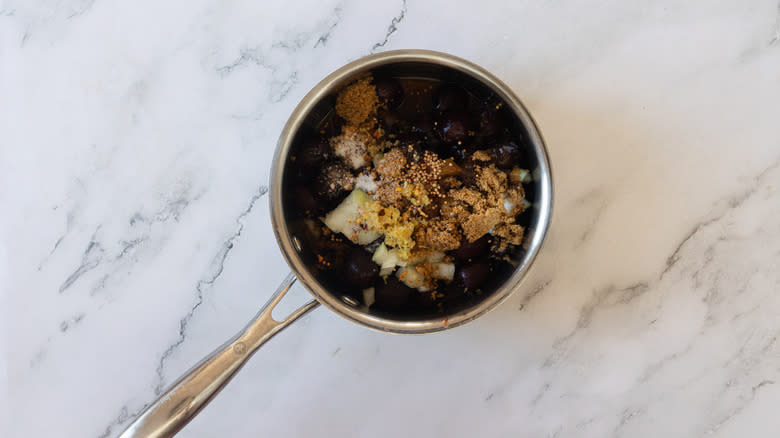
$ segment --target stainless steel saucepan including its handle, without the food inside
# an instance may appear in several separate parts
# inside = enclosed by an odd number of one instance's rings
[[[487,87],[507,105],[514,123],[522,131],[525,151],[536,168],[533,177],[532,219],[527,225],[524,252],[514,271],[494,292],[466,308],[451,314],[425,319],[398,319],[372,312],[338,291],[328,290],[304,263],[300,242],[285,219],[285,167],[296,135],[306,124],[322,117],[325,102],[346,84],[366,72],[382,69],[397,77],[446,79],[468,87]],[[282,282],[257,315],[224,345],[191,368],[156,401],[151,403],[120,435],[130,437],[170,437],[184,427],[230,381],[244,363],[279,331],[320,304],[358,325],[397,334],[422,334],[451,329],[473,321],[504,301],[518,288],[539,252],[552,215],[552,172],[542,136],[520,99],[498,78],[485,69],[458,57],[428,50],[396,50],[367,56],[336,70],[317,84],[298,104],[281,136],[274,154],[269,202],[277,244],[292,273]],[[289,208],[289,207],[287,207]],[[300,281],[314,300],[283,320],[271,313],[295,281]]]

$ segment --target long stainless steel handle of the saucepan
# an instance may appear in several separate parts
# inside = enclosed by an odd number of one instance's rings
[[[295,275],[288,275],[243,330],[187,371],[144,409],[119,437],[167,438],[186,426],[227,385],[258,348],[319,305],[315,300],[309,301],[282,321],[271,317],[274,307],[295,280]]]

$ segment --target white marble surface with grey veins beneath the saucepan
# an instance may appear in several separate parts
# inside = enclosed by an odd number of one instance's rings
[[[535,116],[557,197],[532,273],[437,335],[319,309],[181,436],[777,436],[777,0],[0,5],[0,436],[116,436],[238,330],[286,273],[287,115],[395,48]]]

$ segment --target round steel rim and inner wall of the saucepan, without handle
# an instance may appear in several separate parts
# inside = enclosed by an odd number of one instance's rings
[[[391,75],[439,79],[451,77],[452,71],[455,71],[488,87],[506,102],[507,107],[517,116],[526,131],[526,141],[533,148],[533,155],[539,163],[539,178],[535,181],[538,192],[534,203],[534,208],[538,209],[538,213],[536,222],[530,227],[533,237],[528,242],[528,250],[525,256],[512,276],[492,295],[486,297],[474,307],[446,315],[445,317],[403,321],[389,319],[372,314],[359,307],[349,306],[341,300],[337,293],[338,291],[329,293],[306,267],[293,245],[290,230],[285,221],[282,202],[285,194],[283,193],[283,185],[281,183],[284,178],[285,163],[293,145],[295,134],[306,124],[307,119],[312,117],[313,114],[320,112],[318,106],[321,106],[321,102],[326,101],[329,95],[336,93],[357,75],[376,69],[383,69]],[[520,102],[520,99],[501,80],[482,67],[446,53],[429,50],[395,50],[360,58],[341,67],[323,79],[303,98],[288,119],[279,137],[271,169],[269,198],[274,233],[276,234],[276,241],[282,249],[282,254],[284,254],[287,263],[298,277],[298,280],[303,283],[320,303],[352,322],[375,330],[405,334],[430,333],[457,327],[485,314],[504,301],[520,284],[523,276],[525,276],[531,263],[536,258],[550,225],[553,205],[552,170],[547,156],[547,148],[536,127],[536,123],[522,102]]]

